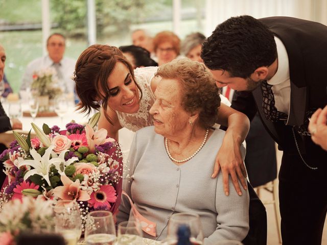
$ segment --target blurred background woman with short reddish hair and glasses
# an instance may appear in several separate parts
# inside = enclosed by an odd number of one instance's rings
[[[153,38],[153,48],[158,58],[158,65],[163,65],[179,55],[180,39],[173,32],[159,32]]]

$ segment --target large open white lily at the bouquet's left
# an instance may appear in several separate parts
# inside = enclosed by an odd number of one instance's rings
[[[34,169],[29,170],[25,174],[24,180],[27,180],[27,178],[29,178],[32,175],[40,175],[45,179],[45,181],[49,185],[51,185],[49,180],[50,167],[52,164],[54,164],[55,166],[59,166],[59,164],[62,162],[62,159],[58,158],[57,154],[52,151],[53,148],[54,146],[51,145],[48,149],[46,149],[42,157],[40,154],[38,154],[35,151],[35,149],[32,148],[30,150],[30,154],[32,155],[34,160],[24,160],[18,164],[18,167],[25,166],[25,165],[34,167]],[[52,159],[49,159],[50,155],[52,156]]]

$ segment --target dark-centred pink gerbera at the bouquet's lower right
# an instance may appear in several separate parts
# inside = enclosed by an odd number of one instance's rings
[[[100,190],[91,193],[91,199],[88,200],[90,207],[111,207],[110,203],[116,201],[116,190],[111,185],[102,185]]]

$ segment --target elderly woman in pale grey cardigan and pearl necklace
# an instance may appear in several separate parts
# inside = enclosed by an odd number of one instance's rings
[[[218,88],[205,66],[189,59],[158,68],[156,101],[150,109],[154,126],[136,132],[123,189],[143,217],[156,223],[156,236],[167,236],[174,213],[200,215],[204,244],[242,241],[249,229],[249,196],[230,192],[226,197],[222,174],[206,178],[225,132],[215,127],[220,105]],[[244,148],[242,149],[244,157]],[[132,213],[123,198],[118,223]]]

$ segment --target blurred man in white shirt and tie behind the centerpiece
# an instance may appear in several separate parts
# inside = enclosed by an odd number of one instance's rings
[[[65,53],[65,37],[60,33],[54,33],[46,41],[48,55],[37,58],[28,64],[25,74],[22,77],[20,90],[28,89],[33,82],[33,73],[40,69],[53,67],[57,72],[59,87],[64,93],[74,92],[74,81],[72,76],[75,70],[76,61],[63,57]]]

